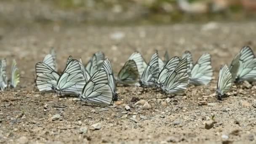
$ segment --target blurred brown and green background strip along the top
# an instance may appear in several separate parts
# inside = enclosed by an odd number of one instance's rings
[[[0,0],[0,24],[170,24],[254,19],[256,0]]]

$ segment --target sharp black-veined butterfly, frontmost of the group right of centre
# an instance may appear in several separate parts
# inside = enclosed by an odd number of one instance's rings
[[[189,81],[187,73],[187,59],[181,59],[175,69],[169,73],[160,88],[163,94],[178,94],[186,91]]]

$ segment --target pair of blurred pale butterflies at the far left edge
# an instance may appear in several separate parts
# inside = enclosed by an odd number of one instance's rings
[[[6,59],[0,60],[0,91],[5,91],[6,88],[16,88],[19,84],[19,69],[17,68],[17,63],[13,59],[11,67],[11,79],[8,80],[6,72]]]

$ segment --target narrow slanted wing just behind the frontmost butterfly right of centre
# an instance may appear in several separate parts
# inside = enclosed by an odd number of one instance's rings
[[[160,72],[157,78],[157,83],[159,85],[163,85],[167,76],[175,69],[175,67],[179,64],[179,61],[180,59],[178,56],[174,56],[167,61],[167,63],[165,64],[165,67],[162,69],[162,71]]]

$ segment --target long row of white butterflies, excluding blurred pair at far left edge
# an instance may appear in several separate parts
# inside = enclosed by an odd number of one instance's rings
[[[221,66],[216,91],[218,98],[222,99],[234,81],[256,80],[254,67],[256,69],[253,51],[247,46],[243,47],[230,67]],[[51,49],[35,69],[39,91],[77,95],[87,104],[100,106],[107,106],[118,99],[117,83],[156,88],[160,93],[170,95],[183,93],[189,84],[207,85],[213,76],[211,55],[204,53],[194,64],[189,51],[185,51],[181,57],[172,58],[165,52],[163,60],[156,51],[148,64],[136,51],[115,77],[109,59],[101,51],[94,53],[85,65],[82,59],[69,56],[65,69],[59,74],[56,53]]]

